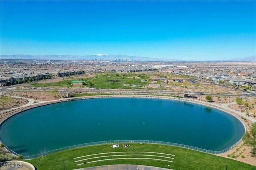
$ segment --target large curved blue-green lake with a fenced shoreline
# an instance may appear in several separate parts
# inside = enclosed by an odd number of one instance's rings
[[[24,156],[109,140],[154,140],[224,150],[244,134],[223,111],[184,101],[95,98],[36,107],[1,125],[1,141]]]

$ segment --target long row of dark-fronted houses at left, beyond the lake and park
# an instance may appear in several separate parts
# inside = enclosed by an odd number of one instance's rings
[[[64,76],[72,76],[76,74],[84,74],[81,70],[63,70],[52,72],[20,72],[8,75],[0,75],[0,86],[11,86],[24,82],[33,82],[36,80],[43,80],[48,78],[57,78]]]

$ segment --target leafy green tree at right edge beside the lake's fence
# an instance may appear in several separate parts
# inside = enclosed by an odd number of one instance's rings
[[[246,131],[243,136],[244,144],[252,147],[252,156],[256,157],[256,123],[252,123],[250,131]]]

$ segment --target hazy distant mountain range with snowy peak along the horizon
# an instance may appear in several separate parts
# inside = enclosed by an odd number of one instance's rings
[[[182,61],[180,59],[158,59],[150,57],[136,57],[128,55],[0,55],[1,59],[23,59],[23,60],[97,60],[97,61]],[[255,61],[256,55],[238,59],[215,60],[215,61]]]

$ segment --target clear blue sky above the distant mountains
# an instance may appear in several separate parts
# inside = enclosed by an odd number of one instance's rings
[[[256,55],[256,1],[0,1],[2,55]]]

